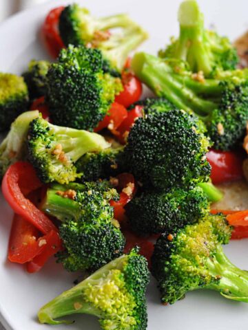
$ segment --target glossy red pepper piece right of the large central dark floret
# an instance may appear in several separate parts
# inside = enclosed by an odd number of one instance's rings
[[[213,184],[242,179],[243,157],[234,151],[211,150],[207,153]]]

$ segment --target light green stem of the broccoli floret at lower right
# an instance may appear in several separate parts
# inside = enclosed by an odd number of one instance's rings
[[[217,248],[215,258],[207,259],[208,267],[213,276],[220,276],[218,284],[214,283],[206,289],[214,289],[225,298],[248,303],[248,272],[238,269],[227,259],[223,248]]]

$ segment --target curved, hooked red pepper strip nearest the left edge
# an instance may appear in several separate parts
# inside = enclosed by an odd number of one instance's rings
[[[24,196],[41,186],[32,165],[28,162],[17,162],[6,171],[2,181],[2,192],[15,213],[32,223],[43,234],[48,234],[50,230],[57,231],[56,226]]]

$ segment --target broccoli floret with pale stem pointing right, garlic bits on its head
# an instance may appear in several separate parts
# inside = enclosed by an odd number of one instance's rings
[[[81,177],[75,163],[85,153],[108,148],[99,134],[50,124],[41,117],[33,120],[28,132],[28,156],[44,183],[68,184]]]

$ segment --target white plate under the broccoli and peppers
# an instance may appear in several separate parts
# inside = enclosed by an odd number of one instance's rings
[[[1,0],[0,0],[1,1]],[[39,41],[39,28],[52,7],[68,1],[50,1],[38,8],[22,12],[0,25],[0,71],[21,73],[31,58],[46,58]],[[150,34],[143,49],[156,53],[178,32],[176,10],[179,0],[85,0],[81,1],[94,14],[129,12]],[[214,23],[221,34],[234,39],[248,28],[246,0],[199,0],[207,25]],[[0,319],[7,329],[43,330],[36,314],[39,307],[68,289],[76,277],[51,260],[38,274],[27,274],[21,266],[6,261],[12,212],[1,199],[0,221]],[[227,255],[241,268],[248,269],[248,241],[234,241],[225,247]],[[231,302],[215,292],[194,292],[175,305],[160,304],[154,281],[147,292],[149,330],[245,330],[248,328],[248,305]],[[74,325],[54,329],[99,329],[90,316],[76,316]]]

